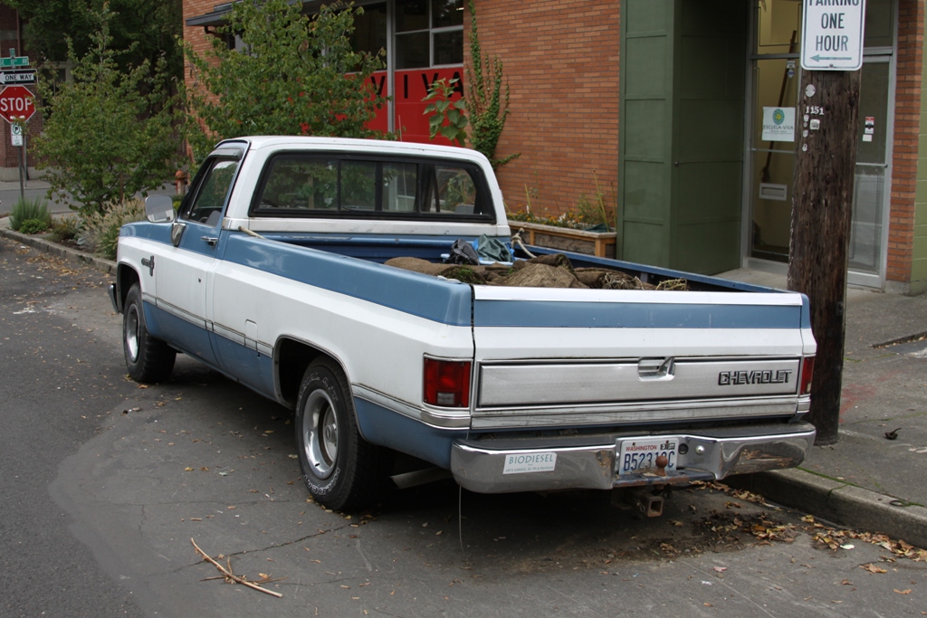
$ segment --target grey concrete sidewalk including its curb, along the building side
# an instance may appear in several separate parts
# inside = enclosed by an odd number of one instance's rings
[[[23,245],[114,272],[116,264],[10,231]],[[784,275],[720,275],[784,288]],[[927,295],[847,290],[840,439],[794,470],[735,476],[730,485],[849,527],[927,548]],[[813,397],[813,394],[812,394]],[[885,434],[896,432],[894,440]]]

